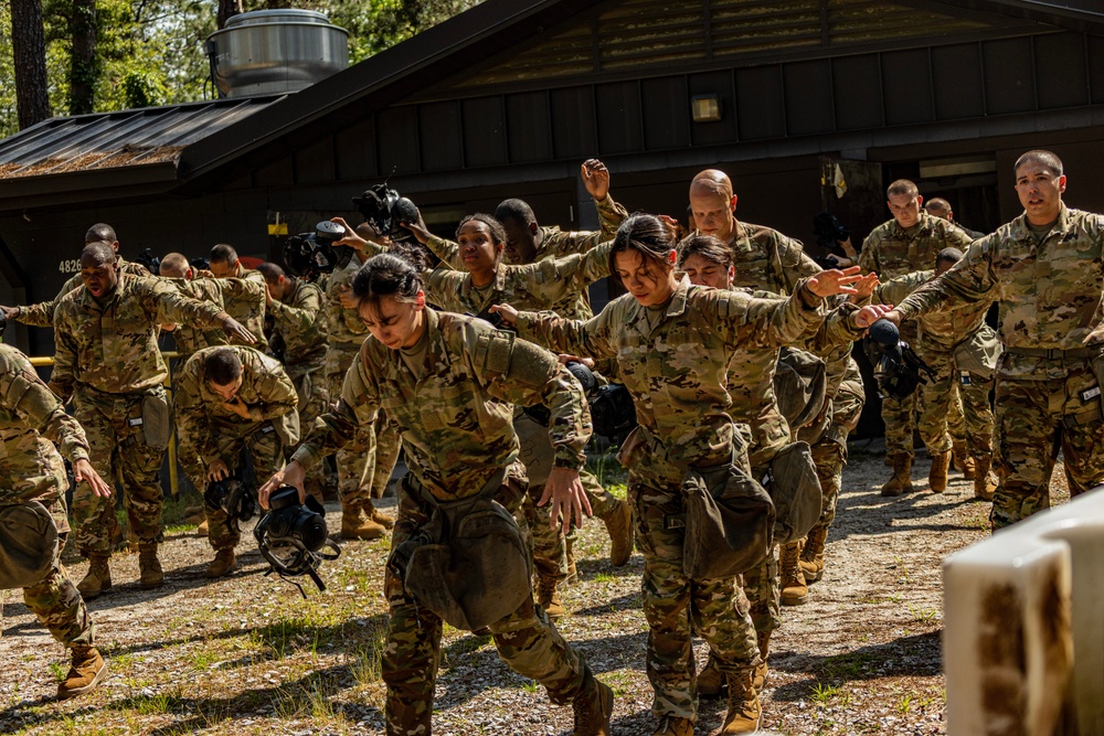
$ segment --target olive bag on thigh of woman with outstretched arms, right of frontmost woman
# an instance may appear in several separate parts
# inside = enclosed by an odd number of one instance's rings
[[[729,462],[692,469],[682,482],[682,572],[696,580],[752,569],[774,544],[775,508],[746,472]]]

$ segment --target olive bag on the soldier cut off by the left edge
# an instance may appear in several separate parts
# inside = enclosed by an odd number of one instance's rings
[[[0,506],[0,590],[30,588],[57,563],[57,526],[38,501]]]

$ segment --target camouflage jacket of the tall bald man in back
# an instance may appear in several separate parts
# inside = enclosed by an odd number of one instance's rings
[[[800,241],[762,225],[737,221],[729,247],[736,270],[732,286],[788,295],[800,279],[821,270]]]

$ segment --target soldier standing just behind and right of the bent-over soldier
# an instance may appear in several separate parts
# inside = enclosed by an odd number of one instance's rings
[[[299,422],[310,427],[315,418],[329,409],[329,391],[322,369],[326,366],[326,295],[302,278],[289,277],[276,264],[257,267],[265,277],[266,306],[273,317],[273,341],[283,345],[277,354],[299,395]],[[307,479],[308,491],[322,501],[327,488],[325,465]]]

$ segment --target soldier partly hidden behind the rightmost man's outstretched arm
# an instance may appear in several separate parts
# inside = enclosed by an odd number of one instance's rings
[[[914,271],[892,278],[874,289],[873,300],[878,303],[900,303],[914,290],[946,273],[962,257],[962,250],[944,248],[936,256],[935,270]],[[925,314],[916,320],[920,327],[916,354],[936,376],[934,381],[930,378],[920,386],[920,436],[932,458],[927,482],[936,493],[942,493],[947,488],[951,461],[947,415],[955,397],[953,386],[958,386],[965,412],[967,446],[975,467],[974,493],[979,499],[990,500],[996,488],[996,481],[989,473],[992,459],[992,409],[989,406],[992,365],[986,365],[988,370],[983,372],[980,364],[989,359],[978,354],[979,349],[985,345],[995,346],[997,340],[992,328],[985,323],[985,314],[991,303],[991,299],[983,299],[954,310]],[[958,355],[960,349],[970,351],[975,358],[970,363],[977,363],[977,367],[963,363]]]

